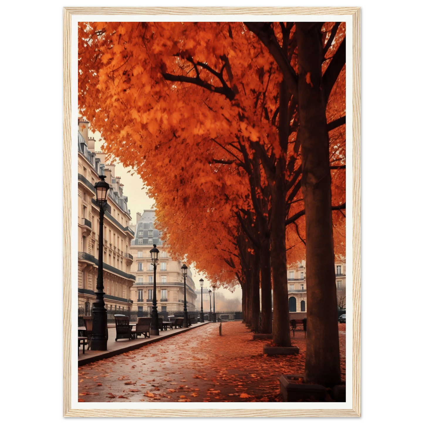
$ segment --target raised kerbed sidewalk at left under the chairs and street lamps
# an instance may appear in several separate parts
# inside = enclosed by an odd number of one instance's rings
[[[203,325],[209,324],[211,321],[205,321],[204,323],[192,324],[188,328],[177,328],[173,330],[159,331],[159,336],[150,336],[150,338],[144,338],[141,336],[135,340],[128,339],[118,339],[115,341],[116,337],[116,329],[114,325],[112,327],[108,326],[109,339],[107,342],[108,350],[86,350],[85,353],[82,353],[82,346],[79,348],[79,356],[78,356],[78,366],[84,365],[90,362],[97,361],[99,359],[109,358],[111,356],[121,354],[124,352],[129,352],[134,349],[138,349],[144,345],[149,343],[154,343],[158,340],[163,340],[168,337],[172,337],[173,335],[184,333],[186,331],[190,331],[193,328],[198,328]],[[87,346],[86,346],[87,347]]]

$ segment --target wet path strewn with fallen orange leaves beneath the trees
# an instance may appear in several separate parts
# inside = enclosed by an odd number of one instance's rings
[[[306,339],[292,333],[300,353],[267,356],[271,340],[252,340],[240,321],[192,329],[78,368],[79,402],[279,402],[281,374],[303,374]],[[340,366],[346,375],[346,324],[339,324]]]

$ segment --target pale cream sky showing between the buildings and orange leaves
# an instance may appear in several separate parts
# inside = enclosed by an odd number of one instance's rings
[[[91,137],[91,131],[89,130],[89,134]],[[99,140],[101,137],[99,132],[95,132],[93,136],[95,140]],[[102,150],[103,146],[103,140],[102,141],[96,141],[95,142],[95,151]],[[115,162],[115,176],[121,177],[121,183],[124,184],[123,187],[123,193],[124,196],[128,196],[128,209],[131,210],[131,224],[135,224],[136,214],[137,212],[140,212],[140,214],[143,213],[145,209],[151,209],[153,204],[155,203],[154,199],[151,199],[146,194],[146,189],[142,190],[143,188],[143,180],[139,177],[137,173],[134,173],[133,176],[131,176],[131,173],[134,172],[134,170],[131,167],[124,168],[123,165],[118,162],[118,160]],[[130,171],[128,173],[128,171]],[[193,281],[196,285],[196,288],[200,289],[200,283],[199,280],[202,278],[204,279],[203,287],[209,288],[209,281],[204,276],[204,274],[199,273],[195,268],[192,268],[192,274],[193,274]],[[231,293],[227,289],[219,288],[217,289],[217,292],[223,293],[223,295],[227,299],[232,298],[239,298],[241,301],[242,298],[242,290],[240,285],[236,287],[234,290],[234,293]]]

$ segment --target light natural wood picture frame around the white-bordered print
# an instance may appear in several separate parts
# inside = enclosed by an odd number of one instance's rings
[[[153,15],[160,14],[184,14],[184,15],[240,15],[240,21],[243,20],[244,14],[249,15],[350,15],[352,17],[352,41],[353,41],[353,57],[352,57],[352,83],[353,83],[353,140],[352,140],[352,320],[353,320],[353,340],[352,349],[352,407],[351,409],[323,409],[323,404],[314,404],[313,409],[305,409],[301,404],[297,404],[293,409],[271,409],[267,408],[266,404],[255,404],[255,409],[237,407],[234,409],[204,409],[203,405],[197,404],[195,409],[165,409],[157,403],[156,409],[131,409],[131,404],[127,409],[104,409],[99,407],[96,409],[84,409],[82,404],[78,408],[71,406],[71,350],[74,349],[74,344],[71,343],[71,133],[72,120],[76,121],[76,117],[72,115],[72,109],[75,105],[71,102],[71,46],[72,46],[72,17],[78,15],[152,15],[152,20],[160,20],[160,17]],[[255,418],[255,421],[261,421],[261,417],[269,417],[271,420],[281,418],[281,421],[289,420],[290,417],[303,417],[308,421],[313,421],[314,418],[332,417],[340,418],[340,421],[345,418],[350,421],[359,421],[363,416],[363,354],[361,355],[361,78],[363,78],[363,62],[361,62],[361,31],[363,33],[365,9],[361,6],[314,6],[314,7],[253,7],[253,6],[228,6],[228,7],[150,7],[150,6],[62,6],[62,36],[63,36],[63,339],[62,339],[62,372],[63,372],[63,405],[62,419],[64,421],[77,421],[78,417],[87,418],[120,418],[126,417],[133,421],[138,417],[165,417],[174,418],[179,421],[179,417],[201,417],[205,421],[213,421],[212,417],[227,418],[228,421],[234,418],[250,417]],[[177,18],[178,19],[178,18]],[[363,56],[362,56],[363,57]],[[347,81],[347,84],[349,81]],[[75,97],[74,97],[75,98]],[[75,110],[75,109],[74,109]],[[363,128],[363,126],[362,126]],[[362,135],[361,135],[362,134]],[[362,140],[363,141],[363,140]],[[363,325],[363,323],[362,323]],[[362,377],[362,379],[361,379]],[[362,384],[361,384],[362,381]],[[362,401],[361,401],[362,399]],[[309,404],[310,405],[310,404]],[[210,419],[209,419],[210,418]],[[186,421],[189,421],[187,418]],[[163,421],[163,420],[162,420]],[[190,420],[191,421],[191,420]],[[322,418],[321,418],[322,421]]]

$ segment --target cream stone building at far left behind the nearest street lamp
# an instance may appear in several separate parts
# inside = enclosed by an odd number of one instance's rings
[[[78,120],[78,309],[90,315],[98,273],[100,212],[95,204],[94,185],[99,175],[109,183],[108,208],[103,228],[103,284],[107,309],[129,310],[130,289],[135,276],[130,274],[131,240],[134,232],[127,198],[123,195],[120,177],[115,177],[114,165],[105,164],[105,153],[95,152],[95,139],[88,137],[89,123]]]

